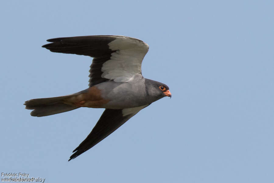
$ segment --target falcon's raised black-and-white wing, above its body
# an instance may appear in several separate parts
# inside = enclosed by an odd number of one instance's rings
[[[142,74],[142,60],[149,46],[126,36],[79,36],[48,39],[42,47],[51,52],[72,53],[93,57],[89,86],[104,81],[126,82],[135,74]]]

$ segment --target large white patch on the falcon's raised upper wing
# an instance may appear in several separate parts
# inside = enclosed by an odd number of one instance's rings
[[[118,37],[109,44],[111,50],[117,50],[111,54],[111,59],[106,61],[101,70],[101,77],[126,82],[135,76],[142,74],[142,60],[148,52],[149,46],[139,39]]]

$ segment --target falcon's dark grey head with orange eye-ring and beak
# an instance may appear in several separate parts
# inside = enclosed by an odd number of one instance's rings
[[[150,99],[153,99],[152,102],[166,96],[171,98],[169,87],[166,84],[160,83],[158,81],[153,81],[150,79],[145,79],[145,84],[146,93],[148,94]]]

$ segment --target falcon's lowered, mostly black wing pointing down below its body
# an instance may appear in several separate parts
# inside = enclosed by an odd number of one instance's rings
[[[76,149],[74,149],[74,154],[70,156],[68,161],[92,148],[147,106],[148,105],[128,109],[105,109],[90,134]]]

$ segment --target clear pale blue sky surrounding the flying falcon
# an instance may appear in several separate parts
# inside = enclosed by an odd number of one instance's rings
[[[1,173],[45,182],[274,182],[273,1],[2,1]],[[91,58],[49,38],[149,44],[165,97],[68,162],[104,109],[31,117],[24,101],[88,88]]]

